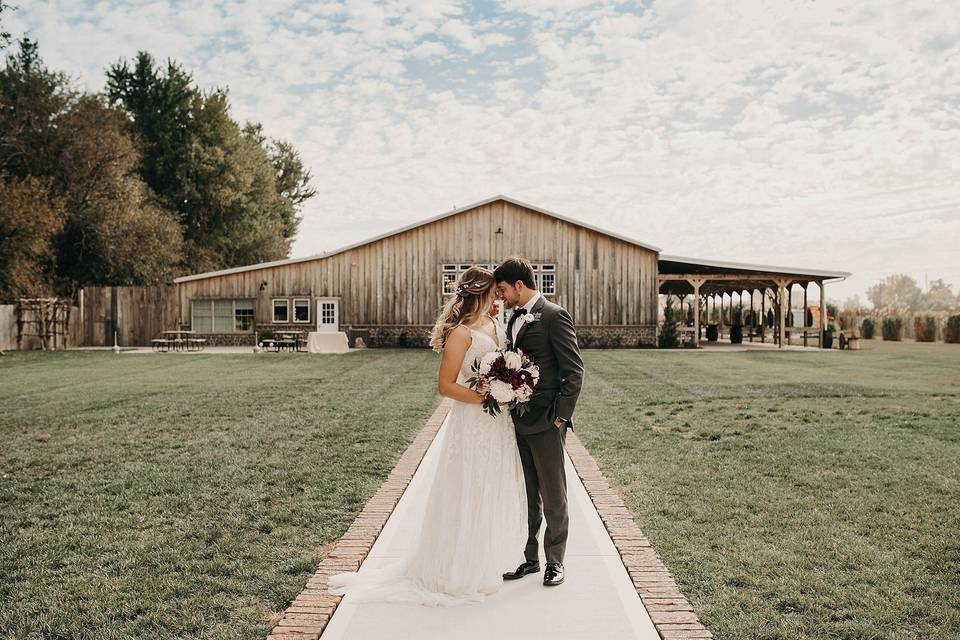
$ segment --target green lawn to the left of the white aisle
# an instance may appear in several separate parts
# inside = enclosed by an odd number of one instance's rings
[[[0,637],[265,637],[435,408],[436,362],[8,352]]]

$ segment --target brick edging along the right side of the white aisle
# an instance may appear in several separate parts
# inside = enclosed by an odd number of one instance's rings
[[[664,640],[713,638],[623,500],[604,478],[597,461],[573,431],[567,432],[566,448],[660,637]]]

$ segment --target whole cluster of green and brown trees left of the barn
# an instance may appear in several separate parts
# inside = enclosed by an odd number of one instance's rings
[[[140,52],[110,68],[104,94],[87,94],[28,38],[0,70],[0,179],[7,297],[286,257],[315,194],[293,145],[241,127],[225,90],[201,91],[176,63]],[[22,241],[14,223],[36,242],[6,246]]]

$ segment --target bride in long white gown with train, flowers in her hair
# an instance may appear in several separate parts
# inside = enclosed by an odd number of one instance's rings
[[[442,354],[440,394],[453,399],[431,480],[420,538],[411,552],[372,573],[330,576],[329,593],[352,602],[447,606],[482,602],[503,585],[502,567],[527,539],[527,497],[510,412],[492,417],[464,381],[476,358],[505,346],[495,319],[493,273],[470,267],[431,335]]]

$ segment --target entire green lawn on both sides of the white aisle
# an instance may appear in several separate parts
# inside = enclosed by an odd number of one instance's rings
[[[577,433],[718,639],[960,638],[960,347],[584,355]],[[263,637],[436,364],[0,357],[0,637]]]

